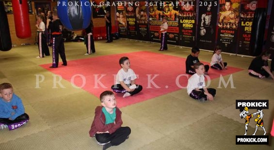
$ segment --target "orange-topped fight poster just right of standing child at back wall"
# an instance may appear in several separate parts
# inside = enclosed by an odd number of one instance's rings
[[[124,1],[117,1],[116,4],[116,17],[119,37],[128,38],[127,18]]]

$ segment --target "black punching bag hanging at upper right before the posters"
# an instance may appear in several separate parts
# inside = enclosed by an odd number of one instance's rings
[[[252,56],[258,56],[262,52],[266,22],[266,3],[267,0],[258,0],[258,6],[254,14],[249,46]]]

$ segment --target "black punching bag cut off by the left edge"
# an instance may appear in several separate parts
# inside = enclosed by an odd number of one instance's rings
[[[0,1],[0,50],[8,51],[12,48],[12,40],[8,17],[3,1]]]

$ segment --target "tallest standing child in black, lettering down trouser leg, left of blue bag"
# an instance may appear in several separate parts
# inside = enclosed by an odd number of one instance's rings
[[[63,25],[58,18],[57,12],[52,14],[53,22],[50,25],[52,31],[52,66],[49,68],[57,68],[59,63],[59,56],[63,61],[64,66],[67,65],[65,54],[64,54],[64,41],[62,36]]]

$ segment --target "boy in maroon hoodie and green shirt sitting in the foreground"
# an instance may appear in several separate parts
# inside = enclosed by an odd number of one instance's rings
[[[122,112],[116,107],[116,99],[112,91],[102,92],[100,101],[102,106],[97,106],[95,109],[89,135],[95,136],[97,143],[103,145],[103,150],[106,150],[123,143],[129,138],[131,130],[129,127],[121,127]]]

